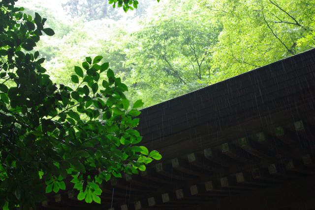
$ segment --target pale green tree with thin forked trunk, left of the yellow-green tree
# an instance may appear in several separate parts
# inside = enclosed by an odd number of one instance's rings
[[[178,5],[181,5],[178,7]],[[212,46],[221,26],[195,1],[163,1],[124,45],[126,83],[146,104],[156,104],[209,83]]]

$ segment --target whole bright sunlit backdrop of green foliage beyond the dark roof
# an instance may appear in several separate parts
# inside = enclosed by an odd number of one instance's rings
[[[315,0],[148,0],[126,14],[102,0],[42,2],[20,3],[56,31],[38,46],[52,79],[67,84],[101,54],[145,106],[315,47]]]

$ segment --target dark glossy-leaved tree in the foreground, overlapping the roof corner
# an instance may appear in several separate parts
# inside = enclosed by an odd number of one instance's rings
[[[75,66],[71,85],[53,83],[44,58],[30,51],[54,31],[15,1],[0,2],[0,208],[35,208],[45,192],[72,187],[68,176],[79,200],[100,203],[99,184],[161,158],[136,146],[143,103],[129,105],[126,85],[101,56]]]

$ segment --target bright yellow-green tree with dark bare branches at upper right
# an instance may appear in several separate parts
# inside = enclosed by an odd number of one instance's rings
[[[215,46],[212,83],[303,52],[298,40],[310,34],[314,0],[200,0],[223,26]]]

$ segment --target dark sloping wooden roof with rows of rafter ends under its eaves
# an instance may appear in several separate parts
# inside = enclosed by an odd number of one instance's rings
[[[160,162],[102,205],[70,190],[40,208],[315,209],[315,49],[145,108],[138,130]]]

